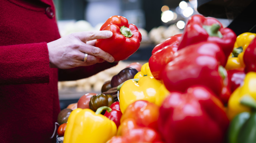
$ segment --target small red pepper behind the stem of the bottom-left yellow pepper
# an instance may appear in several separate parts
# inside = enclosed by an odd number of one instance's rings
[[[122,112],[120,110],[119,102],[114,102],[110,105],[110,108],[112,109],[110,112],[105,112],[104,116],[106,116],[108,119],[114,121],[117,125],[117,128],[120,125],[120,119],[122,116]]]

